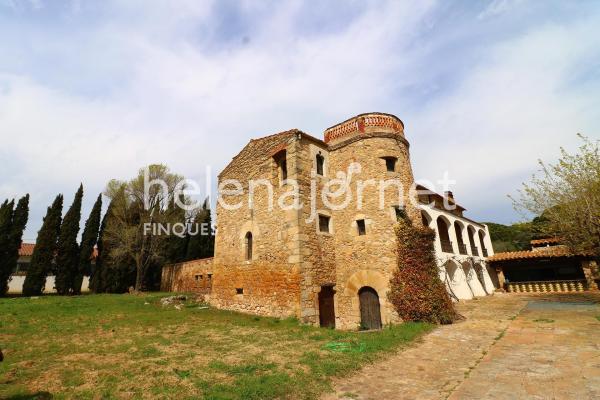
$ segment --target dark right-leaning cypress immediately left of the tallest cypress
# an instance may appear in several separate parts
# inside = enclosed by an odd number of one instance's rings
[[[46,276],[52,268],[56,252],[56,241],[62,220],[62,206],[63,195],[59,194],[52,205],[48,207],[42,227],[38,231],[29,270],[23,283],[24,296],[37,296],[44,289]]]

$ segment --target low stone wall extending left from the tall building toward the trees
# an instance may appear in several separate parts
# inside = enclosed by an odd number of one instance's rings
[[[213,259],[165,265],[160,280],[163,292],[193,292],[208,295],[212,290]]]

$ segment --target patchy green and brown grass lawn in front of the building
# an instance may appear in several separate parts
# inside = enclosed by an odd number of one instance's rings
[[[0,299],[0,398],[311,399],[432,329],[341,332],[165,296]]]

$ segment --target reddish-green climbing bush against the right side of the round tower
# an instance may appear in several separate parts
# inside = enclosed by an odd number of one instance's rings
[[[439,278],[435,232],[413,226],[409,219],[400,219],[395,230],[398,269],[390,280],[388,300],[404,321],[452,323],[459,315]]]

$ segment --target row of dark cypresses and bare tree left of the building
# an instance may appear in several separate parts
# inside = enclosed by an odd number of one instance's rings
[[[144,171],[151,179],[168,183],[168,191],[151,188],[150,206],[144,204]],[[84,276],[90,276],[89,288],[95,293],[123,293],[135,290],[158,290],[162,266],[213,255],[214,234],[165,235],[144,229],[147,223],[204,224],[211,226],[208,199],[200,207],[184,210],[175,205],[176,185],[183,177],[164,165],[141,169],[130,181],[112,180],[104,195],[109,199],[102,216],[99,194],[85,222],[81,240],[81,203],[83,185],[62,217],[63,195],[56,196],[48,207],[38,231],[31,256],[23,295],[43,292],[46,277],[55,276],[55,289],[61,295],[81,293]],[[188,198],[184,199],[188,203]],[[5,295],[11,274],[18,261],[22,235],[29,213],[29,195],[6,200],[0,207],[0,295]],[[195,231],[193,233],[196,233]],[[95,250],[95,251],[94,251]]]

